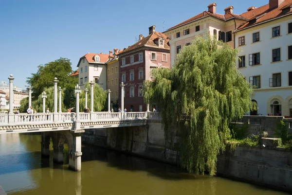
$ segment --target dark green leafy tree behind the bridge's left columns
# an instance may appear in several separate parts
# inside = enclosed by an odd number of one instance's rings
[[[70,73],[72,73],[72,67],[70,60],[67,58],[61,57],[45,65],[39,65],[37,73],[32,73],[26,81],[33,87],[32,99],[36,100],[44,89],[54,86],[55,77],[59,81],[59,87],[73,89],[78,82],[78,78],[70,77]]]

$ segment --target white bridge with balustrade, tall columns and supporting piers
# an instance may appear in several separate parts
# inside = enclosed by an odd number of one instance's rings
[[[43,113],[40,114],[14,114],[13,112],[13,75],[9,79],[9,112],[8,114],[0,114],[0,134],[7,133],[27,133],[42,132],[41,136],[41,154],[43,156],[50,155],[50,139],[53,142],[54,161],[63,162],[64,143],[68,143],[69,147],[69,167],[75,171],[81,170],[81,134],[85,129],[90,128],[111,128],[125,126],[142,126],[146,125],[149,120],[160,120],[157,112],[149,112],[147,106],[146,112],[110,112],[110,90],[108,90],[108,112],[93,111],[93,85],[91,82],[91,112],[79,112],[79,94],[80,87],[75,87],[76,93],[76,112],[61,112],[61,90],[57,89],[57,78],[54,80],[54,112],[45,113],[45,98],[43,98]],[[121,84],[121,97],[124,97],[124,84]],[[31,90],[29,87],[29,103],[31,104]],[[57,97],[59,91],[59,98]],[[87,89],[85,89],[85,107],[87,107]],[[57,103],[59,100],[59,112],[57,111]],[[121,107],[124,107],[124,98],[121,98]]]

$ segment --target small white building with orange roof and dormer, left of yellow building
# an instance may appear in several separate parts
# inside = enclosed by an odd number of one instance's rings
[[[109,54],[87,53],[78,62],[78,84],[84,89],[86,82],[95,82],[104,90],[107,89],[107,67],[106,62]]]

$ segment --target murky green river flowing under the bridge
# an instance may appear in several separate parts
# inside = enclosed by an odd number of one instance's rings
[[[82,171],[74,172],[66,144],[64,164],[54,164],[52,155],[41,157],[40,141],[40,135],[0,135],[0,185],[7,195],[287,195],[92,146],[82,147]]]

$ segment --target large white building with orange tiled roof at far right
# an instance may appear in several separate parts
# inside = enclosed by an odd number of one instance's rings
[[[292,116],[292,0],[270,0],[241,14],[235,30],[238,70],[255,86],[256,114]]]

